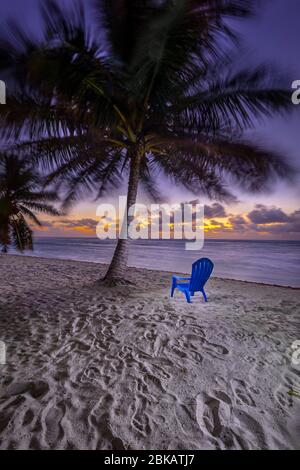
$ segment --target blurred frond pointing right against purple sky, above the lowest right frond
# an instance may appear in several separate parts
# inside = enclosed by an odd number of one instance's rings
[[[183,126],[207,133],[234,128],[241,130],[257,124],[261,117],[291,107],[290,91],[274,81],[265,67],[243,70],[234,76],[203,82],[201,90],[178,100],[174,112]]]

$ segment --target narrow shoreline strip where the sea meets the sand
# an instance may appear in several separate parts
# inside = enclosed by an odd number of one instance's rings
[[[26,259],[32,258],[32,259],[37,259],[37,260],[53,260],[53,261],[60,261],[60,262],[66,261],[66,262],[83,263],[83,264],[90,264],[90,265],[95,265],[96,264],[96,265],[99,265],[101,267],[108,266],[108,263],[100,263],[98,261],[83,261],[83,260],[77,260],[77,259],[73,259],[73,258],[52,258],[52,257],[47,257],[47,256],[22,255],[22,254],[16,255],[16,254],[10,254],[10,253],[7,253],[7,254],[0,253],[0,259],[1,259],[1,256],[10,256],[10,257],[15,257],[15,258],[26,258]],[[136,267],[136,266],[128,266],[128,269],[148,271],[150,273],[152,273],[152,272],[153,273],[162,273],[162,274],[168,274],[170,276],[172,276],[173,274],[189,276],[191,274],[191,273],[184,272],[184,271],[171,272],[171,271],[164,271],[164,270],[161,270],[161,269],[156,270],[156,269],[149,269],[149,268],[140,268],[140,267]],[[282,286],[280,284],[268,284],[268,283],[265,283],[265,282],[244,281],[242,279],[218,277],[218,276],[214,276],[214,275],[211,276],[211,279],[216,279],[216,280],[220,280],[220,281],[237,282],[237,283],[242,283],[242,284],[257,285],[257,286],[276,287],[276,288],[280,288],[280,289],[289,289],[289,290],[293,290],[293,291],[300,291],[300,287]]]

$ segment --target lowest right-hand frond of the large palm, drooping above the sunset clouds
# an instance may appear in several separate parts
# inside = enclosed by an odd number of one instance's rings
[[[195,181],[191,184],[190,174],[194,171],[197,178],[206,179],[208,185],[203,184],[201,191],[208,196],[215,191],[216,196],[219,193],[219,198],[225,196],[226,199],[229,191],[224,192],[224,188],[230,178],[244,191],[252,192],[266,189],[276,178],[288,179],[295,174],[295,169],[277,152],[251,142],[208,139],[201,135],[194,138],[159,136],[158,142],[163,153],[154,155],[157,164],[169,168],[174,161],[174,170],[170,169],[170,172],[178,173],[177,180],[190,188],[198,188]]]

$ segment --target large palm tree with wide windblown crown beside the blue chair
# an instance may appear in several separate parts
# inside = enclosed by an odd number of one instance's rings
[[[228,20],[253,4],[95,0],[88,20],[79,2],[62,11],[48,1],[41,41],[16,26],[0,41],[15,90],[0,109],[3,138],[28,137],[19,151],[51,170],[65,206],[86,189],[101,197],[124,173],[128,207],[139,183],[159,196],[159,174],[214,199],[232,198],[232,184],[261,189],[290,168],[242,133],[290,100],[274,73],[234,72],[228,58]],[[124,277],[128,243],[118,241],[106,279]]]

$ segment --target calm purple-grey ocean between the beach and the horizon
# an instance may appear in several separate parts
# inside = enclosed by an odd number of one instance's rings
[[[29,256],[108,263],[115,242],[97,238],[37,238]],[[136,241],[129,266],[188,273],[198,258],[208,257],[213,275],[227,279],[300,287],[300,242],[206,240],[201,251],[186,251],[184,241]]]

